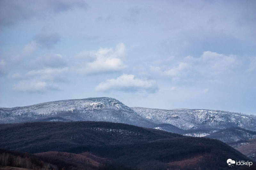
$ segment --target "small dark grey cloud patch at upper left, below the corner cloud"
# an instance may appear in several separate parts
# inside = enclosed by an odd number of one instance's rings
[[[44,48],[54,48],[54,45],[60,41],[58,33],[40,33],[34,36],[36,42]]]

